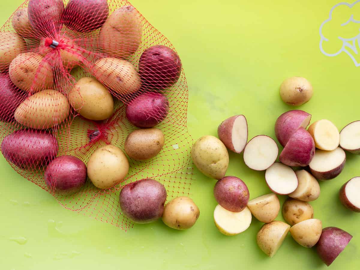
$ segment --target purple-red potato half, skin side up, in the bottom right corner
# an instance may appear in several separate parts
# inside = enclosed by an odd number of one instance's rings
[[[324,228],[316,244],[316,252],[321,260],[329,266],[345,249],[351,238],[351,234],[337,227]]]

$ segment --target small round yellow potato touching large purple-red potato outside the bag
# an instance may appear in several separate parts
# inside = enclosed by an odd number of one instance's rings
[[[165,205],[162,221],[170,228],[186,230],[194,226],[200,210],[192,199],[181,196],[172,199]]]

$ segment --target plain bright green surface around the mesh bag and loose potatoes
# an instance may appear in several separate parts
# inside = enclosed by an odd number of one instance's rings
[[[326,57],[319,50],[319,27],[339,0],[220,1],[134,0],[131,3],[175,46],[189,85],[188,128],[193,139],[216,135],[219,123],[244,114],[249,138],[274,137],[276,118],[291,107],[280,100],[281,82],[289,76],[308,78],[314,96],[301,109],[312,121],[327,118],[339,129],[359,120],[359,72],[345,53]],[[3,24],[21,0],[1,3]],[[360,5],[360,4],[359,4]],[[344,15],[345,16],[345,15]],[[234,237],[213,223],[215,180],[195,169],[190,196],[201,215],[187,231],[161,221],[121,229],[62,208],[38,186],[16,174],[1,156],[0,269],[325,269],[314,249],[290,235],[274,258],[257,247],[262,223]],[[320,183],[312,202],[323,226],[338,226],[354,238],[330,266],[359,269],[360,214],[338,200],[340,186],[360,175],[360,157],[347,155],[342,174]],[[242,178],[250,197],[269,193],[264,172],[248,169],[242,154],[230,153],[228,175]],[[285,196],[281,197],[281,202]],[[283,220],[281,213],[277,217]],[[18,242],[13,238],[19,238]],[[26,238],[26,241],[22,238]],[[25,242],[25,243],[24,243]]]

